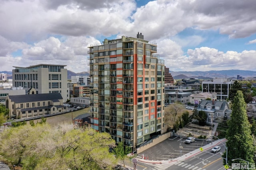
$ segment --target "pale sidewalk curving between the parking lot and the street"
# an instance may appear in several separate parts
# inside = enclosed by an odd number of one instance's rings
[[[207,149],[210,149],[210,148],[213,148],[213,147],[219,145],[220,143],[222,143],[224,141],[226,141],[226,139],[216,140],[216,141],[214,141],[212,143],[209,143],[208,145],[204,145],[202,148],[203,148],[203,150],[207,150]],[[137,160],[140,161],[140,162],[150,163],[150,164],[167,164],[168,163],[171,166],[172,164],[175,164],[176,162],[180,162],[182,160],[188,159],[188,158],[190,158],[190,157],[192,157],[192,156],[194,156],[194,155],[196,155],[196,154],[198,154],[200,152],[202,152],[202,151],[199,148],[199,149],[193,150],[193,151],[191,151],[191,152],[189,152],[187,154],[184,154],[184,155],[182,155],[182,156],[180,156],[178,158],[174,158],[174,159],[170,159],[170,160],[162,160],[162,161],[147,160],[147,159],[143,159],[141,157],[139,159],[137,159]],[[137,158],[138,158],[138,156],[137,156]]]

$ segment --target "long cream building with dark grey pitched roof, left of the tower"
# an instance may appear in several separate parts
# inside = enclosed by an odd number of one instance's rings
[[[8,95],[6,107],[9,119],[42,117],[67,111],[60,93]]]

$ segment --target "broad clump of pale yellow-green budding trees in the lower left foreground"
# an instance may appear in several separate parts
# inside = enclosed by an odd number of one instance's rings
[[[117,162],[110,147],[115,147],[115,141],[108,133],[74,129],[72,124],[50,127],[38,123],[0,133],[0,154],[28,170],[110,170]]]

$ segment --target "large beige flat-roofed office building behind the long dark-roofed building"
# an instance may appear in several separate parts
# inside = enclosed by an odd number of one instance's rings
[[[36,90],[36,94],[60,93],[63,102],[69,99],[67,87],[68,70],[66,65],[38,64],[28,67],[14,66],[12,70],[12,86],[23,87],[26,94],[30,88]]]

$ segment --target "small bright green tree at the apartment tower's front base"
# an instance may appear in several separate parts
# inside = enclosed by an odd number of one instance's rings
[[[118,145],[113,149],[114,154],[116,155],[116,158],[122,160],[122,163],[124,164],[124,161],[130,157],[127,156],[127,154],[132,153],[132,148],[125,146],[123,142],[119,142]]]

